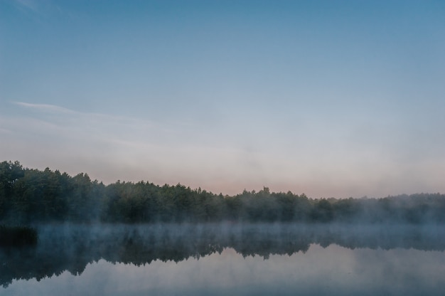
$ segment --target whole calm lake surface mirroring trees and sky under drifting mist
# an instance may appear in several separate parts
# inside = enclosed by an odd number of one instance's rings
[[[444,295],[444,226],[41,226],[0,295]]]

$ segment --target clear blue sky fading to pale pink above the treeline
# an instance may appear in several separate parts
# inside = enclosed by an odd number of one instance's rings
[[[445,1],[0,0],[0,161],[109,184],[445,193]]]

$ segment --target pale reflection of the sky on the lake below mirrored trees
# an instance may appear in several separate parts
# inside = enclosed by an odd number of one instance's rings
[[[441,295],[444,274],[445,253],[437,251],[311,245],[264,260],[227,248],[139,267],[100,260],[78,276],[14,280],[0,295]]]

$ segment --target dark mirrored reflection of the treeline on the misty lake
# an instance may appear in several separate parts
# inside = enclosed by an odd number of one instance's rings
[[[243,257],[305,253],[313,243],[326,248],[414,248],[445,250],[444,226],[336,226],[292,224],[183,224],[144,226],[42,226],[35,248],[0,250],[0,283],[77,275],[88,263],[179,262],[233,248]]]

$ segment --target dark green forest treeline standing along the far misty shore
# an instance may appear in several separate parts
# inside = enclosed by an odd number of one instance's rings
[[[181,184],[117,181],[104,185],[84,173],[69,176],[58,170],[1,162],[0,221],[445,223],[445,195],[310,199],[264,187],[258,192],[223,196]]]

